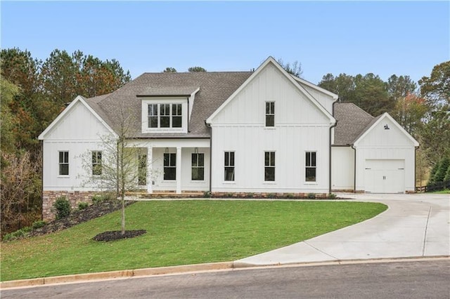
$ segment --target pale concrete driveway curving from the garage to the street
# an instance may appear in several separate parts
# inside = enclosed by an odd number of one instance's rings
[[[450,255],[449,194],[347,194],[380,202],[387,211],[335,232],[237,260],[235,265],[279,265],[374,258]]]

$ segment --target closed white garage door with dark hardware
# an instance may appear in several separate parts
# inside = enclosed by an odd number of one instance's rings
[[[364,190],[372,193],[404,193],[405,160],[366,159]]]

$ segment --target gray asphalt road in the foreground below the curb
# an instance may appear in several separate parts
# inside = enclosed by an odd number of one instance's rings
[[[1,298],[450,298],[450,260],[177,274],[10,289]]]

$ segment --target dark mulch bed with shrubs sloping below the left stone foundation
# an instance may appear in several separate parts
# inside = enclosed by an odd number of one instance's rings
[[[125,206],[133,204],[135,201],[125,201]],[[58,232],[65,230],[66,228],[78,225],[79,223],[92,220],[94,218],[101,217],[108,213],[120,210],[122,208],[122,202],[119,200],[101,201],[98,204],[88,206],[82,211],[72,211],[68,217],[63,219],[54,220],[49,222],[44,227],[37,230],[33,230],[30,233],[31,237],[40,236],[41,234],[50,234],[51,232]]]

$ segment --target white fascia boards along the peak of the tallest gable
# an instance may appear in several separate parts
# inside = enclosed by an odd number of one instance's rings
[[[278,68],[278,70],[282,74],[284,74],[285,77],[288,78],[288,80],[300,90],[300,92],[306,95],[307,98],[311,100],[311,102],[313,102],[314,105],[316,105],[316,107],[318,107],[321,110],[321,112],[323,112],[323,114],[325,114],[326,117],[328,117],[328,119],[330,119],[330,124],[335,124],[336,120],[333,117],[333,115],[331,115],[315,98],[313,98],[300,84],[298,84],[295,81],[295,79],[288,72],[286,72],[285,69],[283,69],[283,67],[281,67],[281,65],[279,65],[279,63],[276,62],[276,60],[272,56],[269,56],[269,58],[267,58],[264,62],[262,62],[262,65],[259,65],[259,67],[255,70],[255,72],[253,72],[253,74],[250,77],[248,77],[248,79],[245,80],[245,82],[241,86],[239,86],[239,88],[236,89],[236,91],[233,94],[231,94],[229,98],[226,99],[226,101],[223,102],[222,105],[220,105],[219,108],[217,108],[213,114],[211,114],[210,117],[207,118],[206,123],[211,124],[214,117],[216,117],[216,115],[219,114],[219,112],[221,112],[221,109],[224,109],[224,107],[228,105],[228,103],[231,102],[231,100],[233,100],[233,98],[235,98],[236,95],[238,95],[238,93],[240,93],[240,91],[243,90],[243,88],[245,88],[245,86],[247,86],[255,77],[257,77],[257,75],[260,72],[262,72],[262,69],[264,69],[266,65],[269,65],[269,63],[275,65],[275,67]]]

